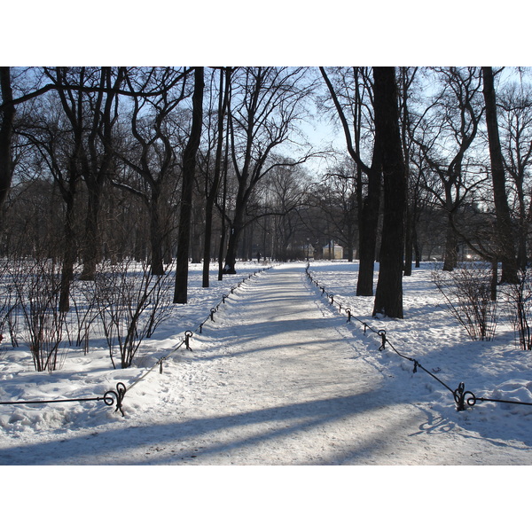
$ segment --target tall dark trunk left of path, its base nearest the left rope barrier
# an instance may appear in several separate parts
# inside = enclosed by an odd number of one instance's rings
[[[196,169],[196,154],[200,147],[201,126],[203,121],[203,79],[204,68],[194,69],[194,93],[192,94],[191,136],[183,153],[183,189],[181,193],[181,212],[176,256],[176,287],[174,303],[185,304],[188,301],[188,259],[191,241],[192,190]]]

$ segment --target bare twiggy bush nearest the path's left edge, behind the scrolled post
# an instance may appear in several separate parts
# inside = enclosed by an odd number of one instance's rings
[[[156,276],[148,264],[140,271],[129,261],[101,265],[95,276],[95,301],[114,368],[117,350],[121,368],[129,368],[142,340],[168,317],[170,286],[169,270]]]

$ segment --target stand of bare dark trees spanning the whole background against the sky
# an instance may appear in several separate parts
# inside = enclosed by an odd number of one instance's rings
[[[360,261],[358,295],[403,317],[402,276],[459,245],[514,282],[527,262],[532,100],[491,67],[0,68],[2,254],[74,265],[303,258],[331,240]],[[312,146],[313,119],[346,149]],[[325,158],[323,175],[309,163]],[[441,247],[441,252],[437,251]]]

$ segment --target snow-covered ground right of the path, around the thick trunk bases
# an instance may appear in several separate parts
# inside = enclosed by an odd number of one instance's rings
[[[411,277],[403,278],[404,319],[375,319],[373,298],[354,295],[357,264],[310,263],[312,275],[327,292],[334,293],[334,301],[349,307],[353,316],[373,328],[384,329],[387,340],[399,353],[418,360],[452,389],[464,382],[465,389],[477,397],[532,403],[532,356],[516,346],[504,309],[499,309],[495,340],[471,340],[446,310],[432,281],[433,269],[433,263],[424,263],[420,269],[413,270]],[[356,320],[352,328],[355,335],[364,332],[364,326]],[[413,373],[411,361],[395,355],[392,349],[379,352],[381,340],[376,335],[368,333],[367,337],[376,346],[379,363],[386,364],[395,373],[398,394],[411,403],[426,403],[446,423],[466,429],[472,437],[508,442],[508,446],[503,445],[506,450],[514,445],[527,450],[523,455],[527,458],[522,463],[531,463],[531,406],[477,402],[466,411],[456,412],[448,389],[424,372]]]

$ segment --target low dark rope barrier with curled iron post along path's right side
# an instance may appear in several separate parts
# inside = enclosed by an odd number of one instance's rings
[[[333,307],[335,305],[334,295],[328,293],[327,290],[325,289],[325,286],[322,286],[321,283],[317,279],[314,278],[309,268],[310,268],[310,264],[308,263],[305,271],[307,274],[307,278],[309,279],[309,282],[312,285],[316,286],[321,291],[321,295],[326,295],[326,297],[331,300],[330,305]],[[466,407],[473,407],[478,401],[491,402],[491,403],[512,403],[512,404],[522,404],[522,405],[532,406],[532,403],[525,403],[522,401],[510,401],[510,400],[496,399],[493,397],[477,397],[476,395],[473,394],[472,391],[465,389],[464,382],[460,382],[457,388],[450,387],[442,379],[439,379],[438,377],[436,377],[434,375],[434,372],[429,372],[425,367],[423,367],[423,365],[420,364],[418,360],[416,360],[415,358],[412,358],[411,356],[404,356],[403,354],[401,354],[393,346],[390,340],[387,339],[387,334],[384,329],[379,329],[379,330],[373,329],[371,325],[368,325],[360,318],[354,316],[352,309],[348,307],[344,307],[342,303],[340,303],[340,301],[337,301],[336,305],[338,306],[338,311],[340,312],[340,314],[342,314],[342,311],[343,311],[348,315],[347,323],[352,324],[353,323],[352,320],[355,320],[359,322],[361,325],[364,325],[364,335],[367,331],[371,331],[380,337],[379,351],[383,351],[388,346],[395,352],[397,356],[401,356],[404,359],[411,361],[411,363],[413,364],[413,371],[412,371],[413,373],[417,373],[418,370],[422,370],[423,372],[426,372],[427,375],[437,380],[443,387],[447,388],[452,394],[453,399],[457,405],[457,411],[465,411]]]

